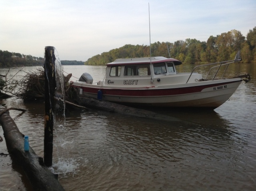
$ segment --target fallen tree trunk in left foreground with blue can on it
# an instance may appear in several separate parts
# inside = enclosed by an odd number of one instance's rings
[[[0,112],[4,110],[6,110],[6,108],[1,105]],[[44,165],[42,157],[36,155],[31,147],[29,148],[29,151],[24,151],[24,135],[20,133],[8,111],[0,115],[0,124],[4,131],[8,152],[12,159],[22,167],[34,190],[64,190],[58,181],[58,175],[52,173]]]

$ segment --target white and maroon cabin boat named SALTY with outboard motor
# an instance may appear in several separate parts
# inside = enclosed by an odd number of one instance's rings
[[[194,72],[178,73],[175,66],[182,62],[173,58],[127,58],[106,64],[106,78],[93,84],[90,74],[84,73],[71,86],[80,88],[80,94],[121,103],[155,107],[204,107],[215,109],[222,105],[236,91],[242,78],[217,78],[220,67],[240,61],[239,59],[219,62],[212,69],[217,71],[212,79]],[[222,70],[223,72],[223,70]],[[224,70],[226,72],[226,70]],[[222,75],[223,76],[223,75]]]

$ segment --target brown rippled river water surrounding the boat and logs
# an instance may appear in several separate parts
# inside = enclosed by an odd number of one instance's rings
[[[181,65],[178,71],[194,66]],[[105,66],[64,66],[75,81],[88,72],[103,80]],[[3,74],[6,68],[0,69]],[[12,70],[12,75],[18,69]],[[30,72],[35,67],[25,67]],[[109,113],[67,111],[66,144],[54,134],[52,171],[67,191],[256,190],[256,64],[234,64],[250,73],[226,103],[213,111],[158,110],[181,121],[166,122]],[[204,72],[204,71],[202,71]],[[16,78],[22,78],[19,73]],[[76,77],[76,78],[75,78]],[[44,105],[9,98],[7,107],[30,146],[43,157]],[[4,138],[0,128],[0,136]],[[5,140],[0,153],[8,154]],[[0,190],[31,191],[10,155],[0,155]]]

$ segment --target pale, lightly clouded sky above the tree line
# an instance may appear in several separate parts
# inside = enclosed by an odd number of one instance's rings
[[[256,26],[256,0],[0,0],[0,50],[86,61],[125,44],[207,41]]]

